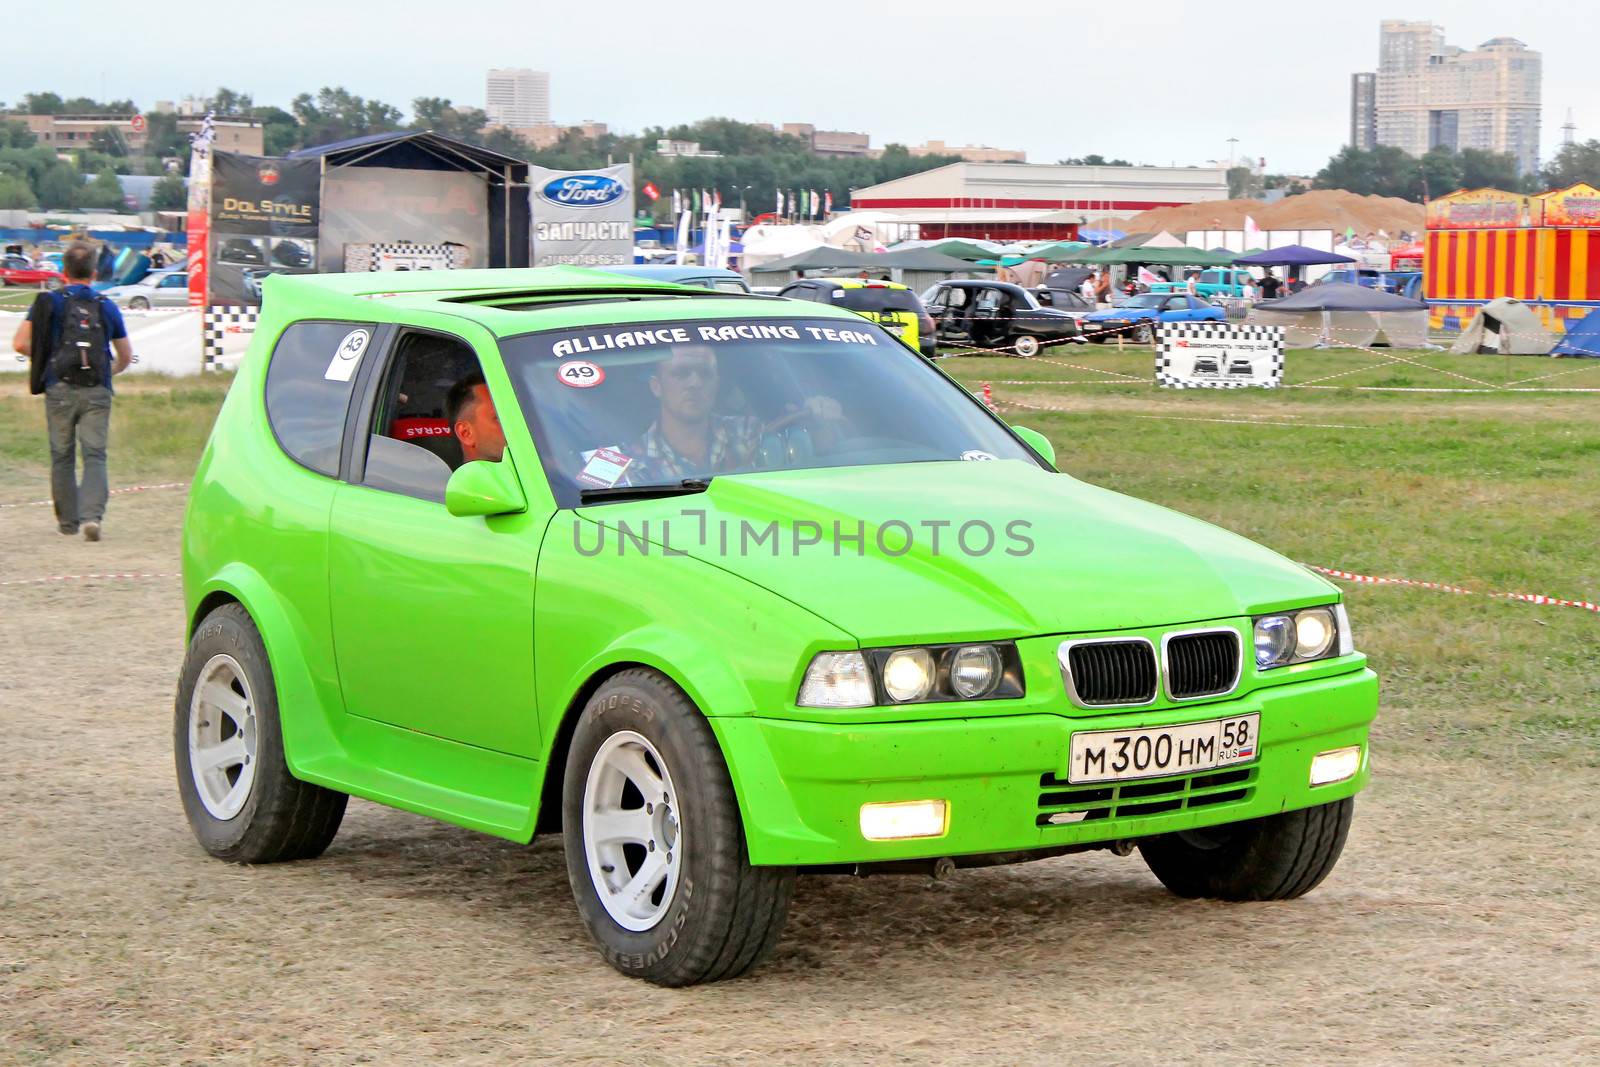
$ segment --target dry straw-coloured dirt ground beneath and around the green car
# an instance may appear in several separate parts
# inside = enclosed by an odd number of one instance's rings
[[[178,581],[14,584],[174,571],[182,493],[114,498],[99,545],[56,536],[48,510],[0,510],[0,1062],[1568,1064],[1600,1048],[1600,771],[1395,758],[1384,720],[1344,861],[1301,901],[1179,901],[1138,856],[1101,853],[944,883],[806,878],[766,966],[691,990],[602,965],[557,840],[352,801],[318,861],[211,861],[173,785]]]

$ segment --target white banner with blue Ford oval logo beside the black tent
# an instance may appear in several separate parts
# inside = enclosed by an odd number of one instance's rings
[[[590,171],[528,168],[536,267],[634,262],[634,166]]]

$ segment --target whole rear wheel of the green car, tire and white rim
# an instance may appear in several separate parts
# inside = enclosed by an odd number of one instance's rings
[[[224,605],[195,627],[174,712],[178,793],[205,851],[274,864],[328,848],[347,797],[290,774],[272,665],[243,606]]]

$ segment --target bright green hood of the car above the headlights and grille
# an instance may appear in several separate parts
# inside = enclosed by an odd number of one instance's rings
[[[640,550],[626,528],[648,539],[645,550],[739,574],[864,645],[1118,630],[1336,600],[1326,581],[1237,534],[1024,461],[723,475],[701,494],[581,514],[610,528],[605,552]],[[858,533],[861,545],[846,539]],[[813,537],[821,544],[805,544]]]

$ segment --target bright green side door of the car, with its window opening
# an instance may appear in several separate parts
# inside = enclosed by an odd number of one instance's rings
[[[366,379],[330,514],[339,686],[350,715],[538,757],[533,573],[549,514],[461,517],[443,502],[461,464],[450,392],[498,358],[488,334],[480,344],[394,331]],[[502,421],[518,418],[502,378],[485,389]],[[542,477],[536,456],[507,448],[501,462],[520,485]]]

